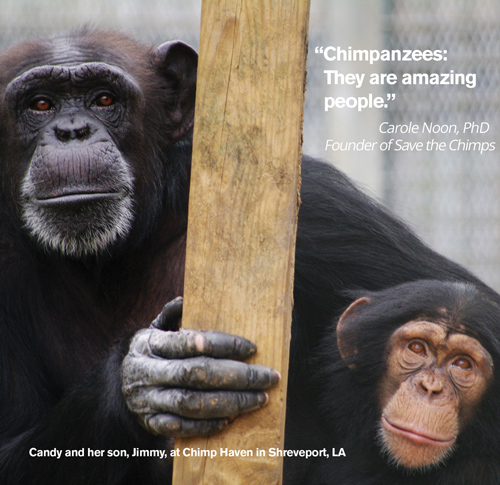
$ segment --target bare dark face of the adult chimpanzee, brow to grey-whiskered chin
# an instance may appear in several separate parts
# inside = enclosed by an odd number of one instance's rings
[[[6,99],[25,143],[34,147],[20,188],[31,234],[71,256],[126,237],[133,175],[118,145],[141,100],[135,80],[100,62],[45,65],[15,78]]]

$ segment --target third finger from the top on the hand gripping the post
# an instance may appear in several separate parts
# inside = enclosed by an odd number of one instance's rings
[[[214,419],[236,416],[267,404],[265,392],[191,391],[150,387],[127,399],[134,413],[175,414],[185,418]]]

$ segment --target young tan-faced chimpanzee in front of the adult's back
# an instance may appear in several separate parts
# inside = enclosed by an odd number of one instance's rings
[[[304,483],[500,483],[498,299],[435,280],[355,295],[316,354],[331,457]]]

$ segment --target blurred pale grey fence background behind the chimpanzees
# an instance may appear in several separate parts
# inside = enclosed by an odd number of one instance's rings
[[[147,44],[181,39],[197,48],[201,0],[0,0],[0,49],[83,24],[125,31]],[[311,0],[304,152],[347,172],[437,251],[500,290],[500,2],[498,0]],[[442,49],[446,62],[327,62],[316,46]],[[283,46],[286,48],[286,46]],[[327,86],[341,72],[476,73],[477,86]],[[366,83],[365,83],[366,84]],[[387,109],[334,109],[325,96],[396,95]],[[386,141],[379,126],[487,122],[470,141],[494,151],[325,151],[334,141]],[[385,137],[385,138],[384,138]],[[426,141],[431,135],[401,135]],[[432,135],[449,142],[450,135]]]

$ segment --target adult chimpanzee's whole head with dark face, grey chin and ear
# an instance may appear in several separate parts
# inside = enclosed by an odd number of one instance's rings
[[[38,46],[6,83],[2,106],[16,211],[42,247],[70,257],[125,240],[137,214],[163,199],[164,167],[151,161],[192,127],[195,76],[185,85],[178,76],[196,69],[182,43],[128,66],[122,51],[77,39]],[[184,94],[192,101],[179,112]],[[145,118],[165,127],[154,142]]]

